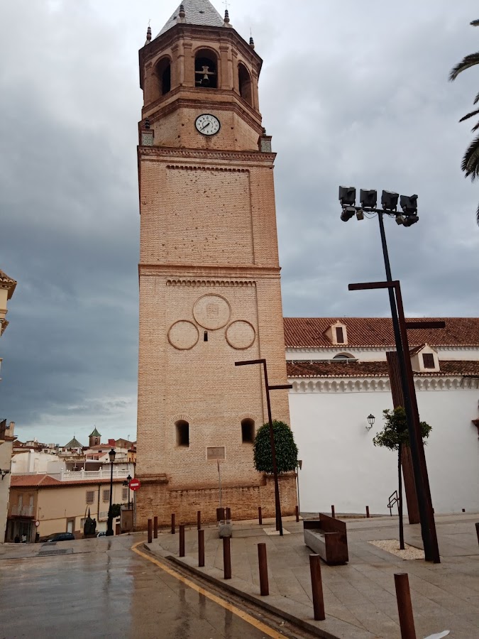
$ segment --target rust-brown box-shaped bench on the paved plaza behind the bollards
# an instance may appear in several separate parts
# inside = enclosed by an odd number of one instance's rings
[[[348,562],[348,537],[343,521],[319,514],[319,520],[305,520],[304,543],[326,564]]]

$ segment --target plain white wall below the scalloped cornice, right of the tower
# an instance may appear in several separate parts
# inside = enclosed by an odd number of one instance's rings
[[[436,513],[479,511],[478,391],[419,391],[419,414],[433,430],[426,445]],[[389,392],[290,393],[291,426],[303,460],[299,496],[303,512],[389,513],[397,488],[395,452],[373,445],[382,429]],[[367,417],[375,425],[366,430]],[[405,503],[405,502],[404,502]],[[397,510],[396,510],[397,512]]]

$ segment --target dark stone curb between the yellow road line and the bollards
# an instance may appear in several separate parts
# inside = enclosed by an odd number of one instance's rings
[[[146,543],[143,546],[145,547],[145,550],[150,552],[152,555],[157,554],[155,551],[151,550]],[[284,603],[287,603],[288,600],[285,597],[282,597],[280,595],[269,595],[268,599],[275,601],[275,603],[270,603],[270,601],[265,601],[264,598],[260,598],[259,596],[255,596],[255,594],[251,594],[249,592],[242,590],[241,588],[238,588],[237,586],[234,586],[233,584],[228,582],[229,580],[224,581],[223,579],[218,579],[214,577],[208,572],[202,572],[202,569],[199,569],[193,566],[187,561],[189,557],[183,557],[182,559],[180,559],[178,557],[175,557],[174,555],[167,555],[166,551],[158,552],[158,555],[162,557],[163,559],[166,559],[167,562],[169,562],[170,564],[175,564],[178,567],[182,567],[182,569],[186,570],[187,572],[192,574],[194,577],[200,577],[204,579],[205,581],[209,581],[209,583],[214,584],[214,586],[219,588],[220,591],[221,590],[229,591],[232,594],[235,594],[236,596],[241,597],[242,599],[246,599],[247,601],[250,601],[250,603],[254,603],[255,606],[258,606],[259,608],[263,608],[263,610],[273,613],[282,619],[285,619],[285,621],[291,621],[298,628],[302,628],[303,630],[308,630],[308,632],[313,633],[314,635],[321,637],[323,639],[341,639],[340,636],[333,634],[329,632],[328,630],[325,630],[324,628],[320,628],[319,626],[316,626],[316,623],[325,623],[325,622],[307,621],[306,619],[295,616],[294,614],[285,611],[283,608],[280,607],[280,604],[283,601]],[[295,605],[302,606],[303,604],[295,602]],[[311,611],[311,614],[312,614],[312,611]],[[348,626],[350,636],[354,636],[355,639],[356,638],[357,639],[373,639],[375,638],[375,636],[377,636],[368,632],[368,630],[363,630],[363,628],[358,628],[358,626],[352,626],[350,623],[347,623],[346,621],[338,620],[335,617],[326,615],[326,622],[327,621],[329,621],[330,623],[341,623],[341,624],[344,624],[345,626]],[[351,635],[351,630],[354,630],[354,633],[355,633],[354,635]]]

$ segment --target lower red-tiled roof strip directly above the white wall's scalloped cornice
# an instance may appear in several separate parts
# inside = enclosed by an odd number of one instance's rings
[[[288,361],[287,376],[292,377],[387,377],[387,361]],[[478,376],[479,360],[439,361],[441,371],[414,373],[414,377]]]

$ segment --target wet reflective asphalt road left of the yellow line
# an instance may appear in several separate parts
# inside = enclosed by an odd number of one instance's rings
[[[4,547],[0,639],[261,639],[265,634],[130,549],[101,537]],[[73,550],[48,557],[44,550]],[[9,557],[16,557],[11,559]]]

